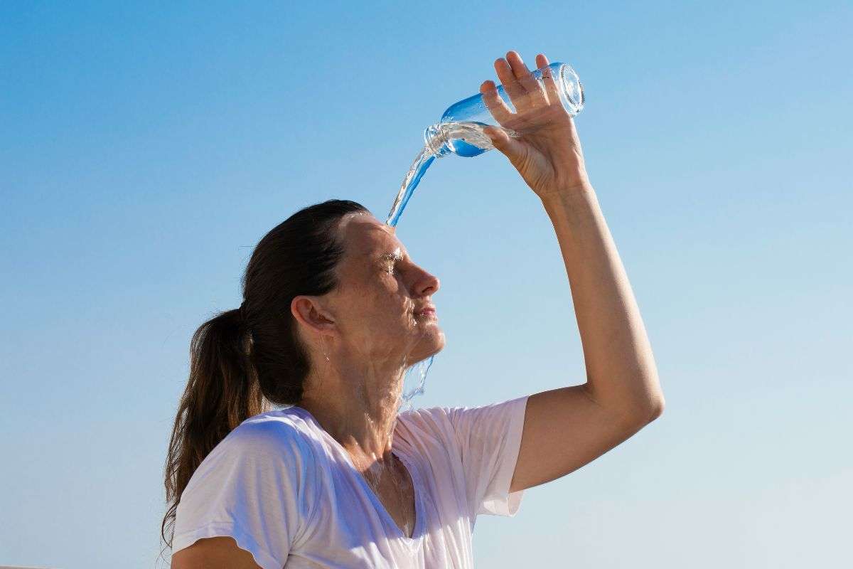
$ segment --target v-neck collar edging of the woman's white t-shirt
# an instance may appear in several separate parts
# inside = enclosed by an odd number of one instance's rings
[[[388,514],[388,510],[385,508],[385,505],[379,499],[379,496],[376,495],[373,488],[368,485],[367,480],[364,479],[362,473],[358,471],[355,464],[352,462],[352,457],[350,453],[346,451],[344,446],[338,442],[336,438],[334,438],[331,434],[326,431],[320,424],[320,421],[316,420],[314,415],[311,415],[311,412],[304,407],[299,407],[299,405],[292,405],[291,407],[285,410],[295,410],[299,415],[309,419],[314,423],[314,425],[322,432],[323,436],[328,441],[328,444],[333,445],[341,455],[344,456],[347,465],[352,469],[353,473],[356,475],[359,480],[359,484],[362,485],[363,491],[365,491],[370,497],[370,501],[374,503],[374,508],[376,509],[377,514],[379,514],[380,518],[385,521],[386,525],[389,525],[392,528],[394,533],[394,537],[398,540],[401,540],[403,543],[409,546],[410,549],[416,549],[423,542],[424,537],[424,506],[423,506],[423,496],[421,496],[421,489],[423,485],[421,484],[421,473],[418,468],[415,467],[415,462],[411,460],[407,451],[401,450],[400,446],[397,444],[397,433],[395,427],[395,433],[391,442],[391,452],[392,455],[397,456],[400,459],[400,462],[403,462],[403,466],[406,467],[406,470],[409,471],[409,478],[412,479],[412,485],[415,488],[415,529],[412,531],[412,537],[409,537],[403,533],[403,530],[400,529],[400,526],[397,525],[397,522],[394,521],[391,514]]]

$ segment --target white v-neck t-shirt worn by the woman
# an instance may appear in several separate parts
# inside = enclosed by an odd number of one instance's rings
[[[412,537],[306,409],[250,417],[189,480],[172,550],[230,536],[263,569],[471,569],[477,515],[519,509],[524,491],[510,494],[509,484],[527,397],[397,416],[392,452],[415,485]]]

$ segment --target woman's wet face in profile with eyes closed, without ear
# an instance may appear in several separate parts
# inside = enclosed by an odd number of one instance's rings
[[[377,366],[408,367],[441,351],[438,315],[420,313],[434,308],[438,278],[409,258],[394,228],[369,214],[348,214],[339,237],[345,253],[328,307],[342,347]]]

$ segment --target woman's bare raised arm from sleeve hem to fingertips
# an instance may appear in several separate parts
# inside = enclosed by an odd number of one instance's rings
[[[537,67],[548,65],[537,56]],[[611,450],[664,409],[652,348],[628,276],[583,164],[571,115],[554,80],[532,78],[510,51],[495,62],[516,113],[487,81],[480,91],[496,120],[486,129],[542,200],[572,289],[587,381],[531,395],[510,491],[558,479]]]

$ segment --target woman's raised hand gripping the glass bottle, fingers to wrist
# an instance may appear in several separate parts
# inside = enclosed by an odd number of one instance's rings
[[[537,69],[548,58],[537,55]],[[486,127],[486,136],[521,174],[540,198],[589,185],[581,142],[572,115],[560,103],[556,81],[546,72],[540,83],[515,52],[495,61],[497,77],[513,103],[513,113],[497,94],[494,81],[480,85],[485,106],[499,125],[518,132],[511,137],[501,129]],[[544,84],[544,86],[543,86]]]

